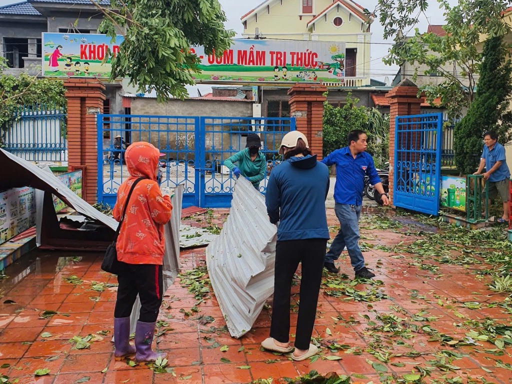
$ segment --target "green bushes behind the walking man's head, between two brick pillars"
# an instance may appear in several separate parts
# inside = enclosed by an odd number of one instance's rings
[[[324,103],[324,157],[347,146],[350,131],[362,130],[368,135],[367,152],[374,157],[377,166],[382,166],[389,161],[389,115],[382,115],[374,108],[356,106],[358,102],[359,99],[349,93],[342,108]]]

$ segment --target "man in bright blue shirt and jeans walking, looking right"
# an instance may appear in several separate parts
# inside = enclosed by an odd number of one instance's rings
[[[373,158],[366,153],[368,146],[364,131],[355,130],[349,133],[348,146],[331,152],[322,160],[327,166],[336,165],[336,184],[334,185],[334,212],[339,220],[339,232],[334,238],[329,251],[325,255],[324,267],[332,273],[339,269],[334,265],[345,246],[350,256],[350,263],[356,278],[371,279],[375,274],[365,267],[365,258],[359,248],[359,217],[361,215],[362,191],[365,175],[375,186],[384,205],[389,205],[379,175],[375,169]]]

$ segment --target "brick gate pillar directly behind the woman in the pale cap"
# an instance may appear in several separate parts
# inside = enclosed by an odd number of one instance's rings
[[[309,142],[309,148],[322,159],[324,93],[327,87],[321,84],[296,83],[290,90],[290,116],[295,117],[297,131],[301,131]]]

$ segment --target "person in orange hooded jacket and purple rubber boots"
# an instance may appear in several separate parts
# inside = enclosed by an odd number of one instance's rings
[[[130,177],[117,192],[114,219],[123,221],[117,238],[117,258],[122,264],[117,276],[119,287],[114,310],[115,358],[133,355],[137,362],[155,361],[159,355],[151,344],[162,304],[164,254],[163,225],[170,220],[173,206],[168,195],[162,195],[156,182],[160,151],[147,142],[136,142],[126,148],[125,161]],[[127,195],[138,178],[126,215],[122,212]],[[135,347],[130,345],[130,314],[137,298],[142,308],[135,328]]]

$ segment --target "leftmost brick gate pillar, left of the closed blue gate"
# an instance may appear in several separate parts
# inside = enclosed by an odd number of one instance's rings
[[[68,167],[82,169],[82,199],[97,202],[98,135],[96,114],[103,113],[104,84],[98,79],[68,78]]]

